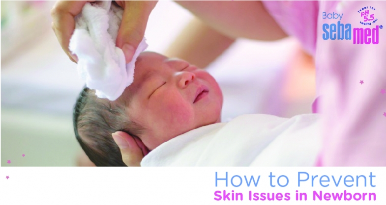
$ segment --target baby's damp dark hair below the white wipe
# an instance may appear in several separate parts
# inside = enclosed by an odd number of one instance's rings
[[[126,166],[112,133],[125,131],[138,136],[144,130],[130,121],[127,99],[99,99],[95,90],[87,87],[79,94],[73,113],[75,137],[96,166]]]

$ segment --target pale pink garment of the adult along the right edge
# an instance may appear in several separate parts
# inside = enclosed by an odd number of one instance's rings
[[[378,27],[378,44],[353,43],[354,28],[386,26],[386,1],[265,1],[264,5],[315,56],[320,97],[313,109],[324,115],[323,150],[317,164],[386,166],[386,94],[381,93],[386,89],[386,27]],[[364,17],[358,10],[365,6],[376,9],[364,9],[369,10],[368,18],[374,14],[377,19],[370,26],[360,24]],[[323,12],[343,16],[323,19]],[[337,25],[339,20],[351,24],[351,40],[324,40],[322,26]]]

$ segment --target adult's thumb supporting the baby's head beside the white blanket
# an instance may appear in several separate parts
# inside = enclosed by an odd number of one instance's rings
[[[123,162],[127,166],[141,166],[142,158],[149,153],[149,150],[138,137],[132,137],[126,132],[117,131],[113,133],[113,139],[120,149]]]

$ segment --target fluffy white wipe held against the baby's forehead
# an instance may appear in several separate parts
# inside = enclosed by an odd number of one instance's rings
[[[78,56],[78,73],[86,86],[96,90],[98,98],[115,101],[134,80],[138,55],[148,45],[139,44],[130,63],[115,42],[123,9],[111,1],[86,3],[75,17],[75,30],[69,49]]]

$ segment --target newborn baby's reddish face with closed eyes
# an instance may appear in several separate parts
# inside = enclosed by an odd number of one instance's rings
[[[140,138],[150,150],[184,132],[220,122],[223,96],[217,82],[180,59],[141,53],[134,82],[122,95],[126,96],[131,99],[129,116],[146,129]]]

